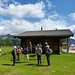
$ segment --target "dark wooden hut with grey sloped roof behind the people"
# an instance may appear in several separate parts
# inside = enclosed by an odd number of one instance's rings
[[[68,52],[68,38],[74,34],[69,30],[42,30],[42,31],[26,31],[15,35],[14,37],[21,39],[21,46],[32,43],[33,53],[38,43],[42,44],[43,53],[45,53],[45,42],[47,42],[53,53],[60,53],[60,47],[63,52]]]

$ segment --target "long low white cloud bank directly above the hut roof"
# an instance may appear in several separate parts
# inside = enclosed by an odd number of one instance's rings
[[[3,26],[3,29],[1,28]],[[25,31],[33,31],[33,30],[41,30],[41,26],[43,30],[54,30],[54,29],[66,29],[67,23],[64,20],[54,21],[52,19],[44,18],[38,22],[29,22],[23,19],[12,19],[12,20],[4,20],[0,21],[0,30],[3,30],[4,34],[19,34]]]

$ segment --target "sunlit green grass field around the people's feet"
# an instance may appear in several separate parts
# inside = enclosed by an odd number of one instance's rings
[[[75,75],[75,54],[53,54],[51,66],[46,66],[45,55],[42,55],[42,65],[37,66],[35,57],[30,62],[24,62],[24,55],[20,55],[20,61],[12,66],[11,50],[13,47],[2,47],[0,57],[0,75]]]

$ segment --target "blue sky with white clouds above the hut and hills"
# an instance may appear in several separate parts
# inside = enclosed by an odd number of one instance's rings
[[[70,29],[75,34],[75,0],[0,0],[0,35],[41,27]]]

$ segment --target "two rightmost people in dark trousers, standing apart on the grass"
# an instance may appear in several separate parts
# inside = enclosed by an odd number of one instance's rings
[[[48,43],[45,43],[45,54],[47,59],[47,65],[50,66],[50,55],[53,53],[52,49],[49,47]],[[42,48],[40,47],[40,44],[37,44],[36,48],[36,55],[37,55],[37,61],[38,65],[41,65],[41,56],[42,56]]]

